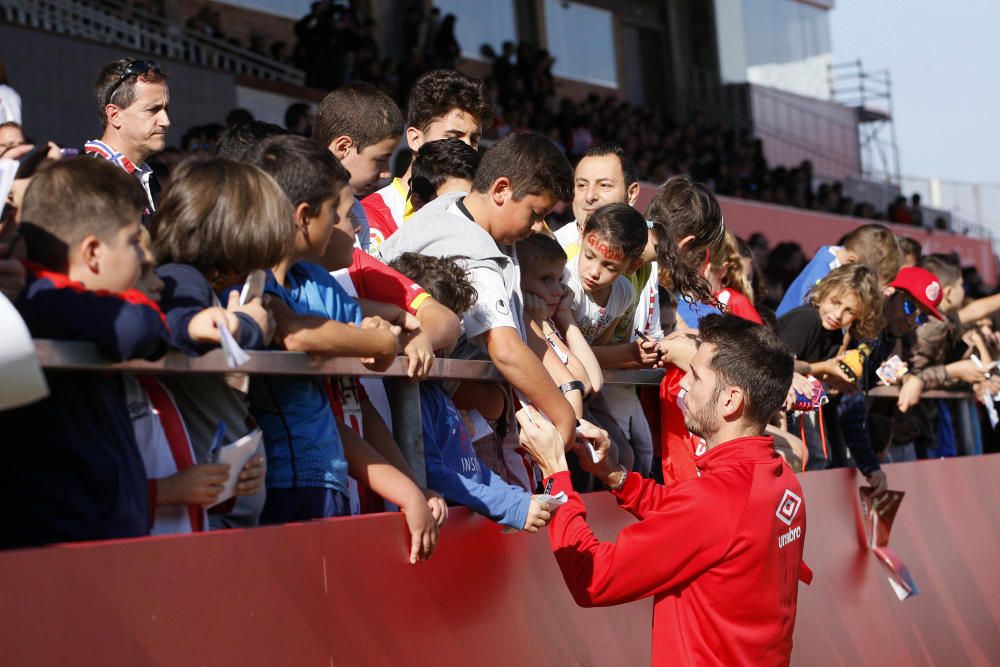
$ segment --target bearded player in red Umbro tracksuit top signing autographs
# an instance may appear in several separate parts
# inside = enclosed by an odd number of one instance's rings
[[[654,596],[654,665],[786,665],[792,652],[806,513],[792,470],[763,436],[792,378],[792,357],[766,328],[733,315],[701,321],[701,344],[682,382],[688,428],[706,453],[698,477],[661,486],[626,474],[607,434],[579,431],[581,465],[639,519],[600,542],[570,484],[554,429],[533,408],[518,413],[521,442],[546,491],[569,501],[549,525],[566,584],[585,607]]]

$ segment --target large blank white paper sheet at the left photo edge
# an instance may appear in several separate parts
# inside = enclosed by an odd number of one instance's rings
[[[35,345],[14,305],[0,294],[0,410],[19,408],[49,395]]]

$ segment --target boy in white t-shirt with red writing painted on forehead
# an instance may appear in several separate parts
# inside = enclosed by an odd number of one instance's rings
[[[622,274],[642,261],[647,239],[645,218],[628,204],[605,204],[587,219],[567,287],[576,325],[591,345],[606,343],[630,310],[635,289]]]

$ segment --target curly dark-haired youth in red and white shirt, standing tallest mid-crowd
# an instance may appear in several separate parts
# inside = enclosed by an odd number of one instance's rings
[[[460,139],[475,149],[483,125],[491,116],[492,104],[482,81],[454,70],[433,70],[421,76],[410,90],[406,143],[414,154],[428,142],[448,138]],[[408,200],[412,176],[411,163],[402,177],[365,197],[373,252],[413,214],[413,204]]]

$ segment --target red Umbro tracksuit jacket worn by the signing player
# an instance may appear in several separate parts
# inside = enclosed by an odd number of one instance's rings
[[[568,472],[569,502],[549,540],[577,604],[655,596],[654,665],[787,665],[806,512],[802,487],[770,437],[697,459],[699,477],[661,486],[637,473],[615,495],[639,522],[600,542]]]

